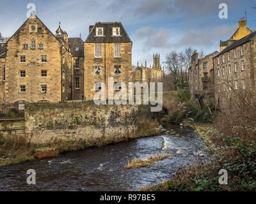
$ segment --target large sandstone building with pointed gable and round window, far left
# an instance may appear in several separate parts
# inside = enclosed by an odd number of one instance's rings
[[[1,103],[71,99],[67,33],[54,36],[35,13],[0,49]]]

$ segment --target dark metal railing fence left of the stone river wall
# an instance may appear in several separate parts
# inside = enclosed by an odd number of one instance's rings
[[[2,103],[0,106],[0,118],[24,117],[24,103]]]

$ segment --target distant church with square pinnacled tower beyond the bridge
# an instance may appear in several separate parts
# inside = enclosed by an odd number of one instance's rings
[[[132,70],[132,82],[161,82],[164,75],[164,70],[160,65],[160,55],[153,54],[153,66],[151,64],[147,67],[147,61],[145,61],[145,66],[139,62],[137,67]]]

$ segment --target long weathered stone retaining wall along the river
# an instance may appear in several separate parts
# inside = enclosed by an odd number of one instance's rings
[[[138,106],[95,105],[93,101],[26,103],[26,137],[32,143],[54,140],[121,140],[138,126]]]

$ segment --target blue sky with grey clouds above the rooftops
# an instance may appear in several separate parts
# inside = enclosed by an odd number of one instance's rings
[[[36,16],[55,33],[61,28],[68,37],[89,33],[95,22],[122,22],[132,40],[132,64],[152,64],[160,54],[162,66],[172,51],[186,47],[219,51],[220,40],[228,40],[247,13],[247,25],[256,30],[255,0],[0,0],[0,33],[12,36],[27,19],[29,3]],[[227,4],[228,18],[219,18],[219,5]]]

